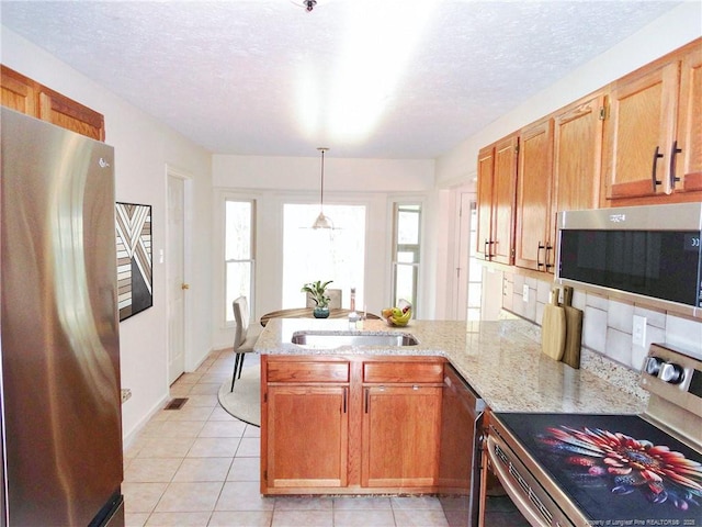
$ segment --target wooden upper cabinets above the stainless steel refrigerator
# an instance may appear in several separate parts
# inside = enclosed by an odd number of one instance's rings
[[[102,114],[7,66],[2,66],[0,80],[3,106],[95,141],[105,141],[105,122]]]

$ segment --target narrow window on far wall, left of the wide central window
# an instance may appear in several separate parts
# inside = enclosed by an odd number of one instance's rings
[[[231,303],[246,296],[253,312],[254,201],[225,201],[225,321],[234,323]]]

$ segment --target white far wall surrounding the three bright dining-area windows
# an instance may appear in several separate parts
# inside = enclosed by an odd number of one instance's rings
[[[314,146],[310,147],[314,150]],[[282,289],[282,236],[284,203],[319,201],[320,156],[310,157],[257,157],[213,156],[213,205],[215,208],[214,239],[223,239],[220,204],[224,195],[257,200],[257,280],[256,299],[251,319],[256,321],[270,311],[281,309]],[[433,200],[433,160],[417,159],[344,159],[325,156],[325,203],[362,204],[366,206],[365,304],[367,310],[380,313],[389,301],[390,277],[387,259],[390,251],[390,204],[399,199],[423,200],[428,216],[428,229],[435,212]],[[314,218],[313,218],[314,220]],[[312,222],[312,220],[310,220]],[[424,233],[427,234],[427,233]],[[434,266],[434,237],[427,234],[424,272],[432,279]],[[222,249],[215,244],[213,261],[214,291],[213,312],[214,347],[227,347],[233,332],[220,315],[224,283],[222,274]],[[422,293],[431,295],[431,291]],[[348,293],[347,293],[348,295]],[[424,299],[422,317],[433,315],[433,299]]]

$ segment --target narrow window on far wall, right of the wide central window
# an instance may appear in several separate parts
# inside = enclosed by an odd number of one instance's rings
[[[417,309],[421,205],[396,203],[393,221],[393,305],[400,299]]]

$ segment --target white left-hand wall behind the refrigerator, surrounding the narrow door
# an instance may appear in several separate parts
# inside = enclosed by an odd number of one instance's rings
[[[152,205],[154,254],[166,251],[166,167],[192,177],[193,258],[188,366],[211,350],[211,156],[166,125],[90,81],[43,49],[2,26],[2,64],[86,104],[105,116],[105,142],[115,148],[116,200]],[[167,260],[166,260],[167,261]],[[123,405],[123,434],[129,440],[168,397],[166,264],[154,261],[154,306],[120,324],[122,386],[132,390]]]

